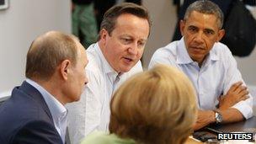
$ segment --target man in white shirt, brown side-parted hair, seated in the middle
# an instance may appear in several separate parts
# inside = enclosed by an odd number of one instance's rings
[[[92,131],[108,131],[110,99],[120,83],[142,71],[149,31],[149,15],[142,6],[120,3],[104,14],[99,41],[87,50],[89,83],[80,101],[68,106],[72,143]]]

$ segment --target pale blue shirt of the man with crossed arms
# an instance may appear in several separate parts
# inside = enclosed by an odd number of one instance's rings
[[[201,67],[190,58],[184,45],[184,38],[158,49],[152,56],[149,68],[157,63],[178,67],[189,77],[196,89],[200,109],[216,109],[219,96],[226,94],[233,83],[243,82],[242,75],[237,69],[237,61],[227,46],[220,42],[213,45]],[[246,119],[253,115],[253,97],[251,94],[249,97],[232,106]]]

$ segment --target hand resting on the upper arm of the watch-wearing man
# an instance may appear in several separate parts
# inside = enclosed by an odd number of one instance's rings
[[[248,99],[248,90],[242,85],[242,82],[232,84],[226,95],[220,96],[219,109],[228,109],[241,100]]]

